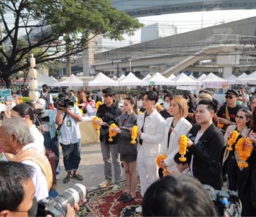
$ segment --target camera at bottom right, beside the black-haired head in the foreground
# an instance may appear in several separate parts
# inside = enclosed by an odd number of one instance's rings
[[[237,192],[215,190],[210,185],[203,185],[203,187],[208,192],[219,216],[224,214],[228,216],[241,216],[241,201]]]

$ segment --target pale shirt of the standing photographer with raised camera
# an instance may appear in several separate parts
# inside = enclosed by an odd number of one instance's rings
[[[82,114],[80,113],[80,110],[77,107],[77,105],[75,105],[74,107],[70,107],[69,110],[82,117]],[[62,112],[62,117],[64,117],[64,114],[65,112]],[[70,127],[67,126],[68,121],[71,122]],[[75,121],[68,114],[66,115],[62,127],[60,127],[60,132],[62,135],[58,136],[60,143],[62,143],[63,145],[78,143],[79,139],[81,138],[79,123],[79,121]]]

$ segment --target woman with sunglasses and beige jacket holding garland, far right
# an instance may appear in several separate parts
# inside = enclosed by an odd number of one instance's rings
[[[226,170],[228,174],[228,189],[230,191],[237,191],[237,181],[239,179],[240,169],[237,165],[239,158],[235,146],[239,138],[245,138],[250,131],[251,113],[249,110],[238,110],[235,116],[236,125],[230,125],[224,135],[226,150],[223,156],[223,163],[226,163]],[[235,136],[237,134],[237,136]],[[233,142],[231,141],[233,140]],[[232,143],[232,144],[231,144]]]

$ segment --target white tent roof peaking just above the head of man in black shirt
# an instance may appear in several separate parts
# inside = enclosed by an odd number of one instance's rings
[[[118,81],[115,81],[109,78],[107,75],[104,75],[102,72],[100,72],[93,78],[93,80],[86,82],[86,85],[88,85],[89,87],[118,86]]]

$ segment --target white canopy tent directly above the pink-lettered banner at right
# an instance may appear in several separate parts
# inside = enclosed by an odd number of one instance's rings
[[[201,84],[204,88],[227,88],[230,82],[210,72],[208,76],[201,80]]]

